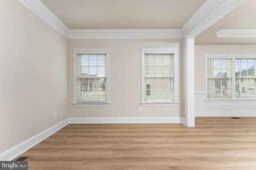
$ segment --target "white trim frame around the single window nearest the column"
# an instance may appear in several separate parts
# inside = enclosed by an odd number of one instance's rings
[[[174,102],[145,102],[144,57],[145,53],[174,53]],[[141,49],[141,106],[177,106],[179,96],[178,48],[142,48]]]

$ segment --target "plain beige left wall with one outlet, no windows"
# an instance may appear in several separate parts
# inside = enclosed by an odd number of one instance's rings
[[[68,40],[17,0],[0,0],[0,25],[2,153],[67,118]]]

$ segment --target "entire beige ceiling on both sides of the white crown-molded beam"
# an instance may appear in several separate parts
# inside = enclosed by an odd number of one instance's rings
[[[69,29],[180,29],[206,0],[41,0]],[[256,0],[246,0],[195,38],[196,45],[256,44],[218,38],[220,29],[256,29]]]

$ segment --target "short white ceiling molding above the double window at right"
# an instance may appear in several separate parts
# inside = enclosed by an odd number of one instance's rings
[[[256,38],[256,29],[220,29],[218,38]]]

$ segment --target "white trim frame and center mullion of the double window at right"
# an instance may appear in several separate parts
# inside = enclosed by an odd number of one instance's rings
[[[234,75],[235,70],[235,59],[256,59],[256,54],[205,54],[204,61],[204,77],[205,77],[205,101],[255,101],[253,98],[236,98],[236,78]],[[208,88],[207,88],[207,59],[232,59],[232,99],[208,99]]]

